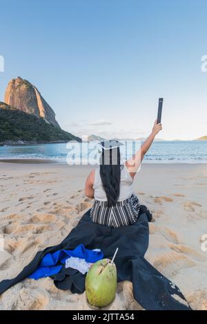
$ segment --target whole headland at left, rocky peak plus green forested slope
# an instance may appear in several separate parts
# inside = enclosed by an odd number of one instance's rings
[[[8,83],[0,102],[0,145],[81,141],[61,130],[55,112],[29,81],[17,77]]]

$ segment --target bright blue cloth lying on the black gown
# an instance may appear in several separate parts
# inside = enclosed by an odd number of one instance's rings
[[[30,274],[28,278],[37,280],[57,274],[66,263],[66,259],[70,258],[70,256],[85,259],[86,262],[90,263],[95,263],[103,259],[103,253],[101,251],[88,250],[83,244],[80,244],[74,250],[58,250],[57,252],[46,254],[41,260],[39,267],[37,267],[37,270]],[[58,265],[58,263],[61,263],[61,265]]]

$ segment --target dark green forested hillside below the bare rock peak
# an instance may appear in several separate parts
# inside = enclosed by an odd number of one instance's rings
[[[0,143],[4,141],[81,141],[42,118],[0,103]]]

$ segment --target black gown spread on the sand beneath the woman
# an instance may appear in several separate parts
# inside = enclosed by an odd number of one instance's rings
[[[136,223],[112,228],[92,223],[90,210],[88,210],[59,245],[37,252],[32,262],[24,267],[14,279],[1,281],[0,294],[12,285],[28,278],[48,252],[52,253],[61,249],[72,250],[82,243],[87,249],[101,249],[104,258],[109,259],[112,259],[116,248],[119,247],[115,258],[117,280],[118,282],[124,280],[132,282],[134,298],[145,310],[191,310],[179,288],[144,259],[148,248],[148,221],[151,217],[146,206],[141,205]],[[51,278],[56,287],[61,290],[70,290],[72,293],[79,294],[85,290],[86,275],[72,268],[63,267],[59,274]],[[184,303],[179,302],[182,300]]]

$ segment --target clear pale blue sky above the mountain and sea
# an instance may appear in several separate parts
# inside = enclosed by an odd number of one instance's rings
[[[207,134],[206,0],[1,0],[0,100],[37,86],[74,134],[146,136],[164,97],[164,139]]]

